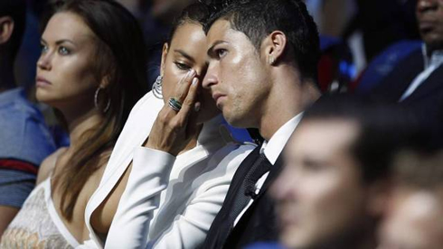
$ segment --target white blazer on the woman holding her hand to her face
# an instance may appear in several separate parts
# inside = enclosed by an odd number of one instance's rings
[[[233,174],[254,145],[223,137],[221,115],[203,124],[197,146],[173,155],[142,146],[164,106],[149,92],[131,111],[85,212],[90,240],[79,248],[195,248],[203,244]],[[224,130],[224,131],[223,131]],[[106,244],[90,225],[94,210],[133,162]]]

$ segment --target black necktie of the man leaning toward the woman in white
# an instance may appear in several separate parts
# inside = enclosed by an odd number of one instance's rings
[[[251,198],[256,198],[255,185],[257,181],[270,170],[269,160],[266,158],[264,153],[260,153],[257,160],[251,165],[250,171],[246,174],[243,182],[241,183],[240,189],[238,189],[235,198],[232,200],[232,208],[228,217],[228,221],[225,223],[230,227],[226,227],[229,235],[235,219],[240,215],[243,208],[245,208],[250,202]],[[226,235],[226,236],[227,236]]]

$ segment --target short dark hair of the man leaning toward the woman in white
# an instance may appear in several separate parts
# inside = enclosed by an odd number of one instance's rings
[[[217,20],[227,20],[231,23],[233,30],[243,32],[248,36],[257,50],[263,39],[271,32],[284,32],[290,45],[287,52],[293,53],[301,77],[312,78],[316,81],[320,54],[318,31],[303,1],[239,0],[228,2],[225,5],[220,1],[212,4],[223,8],[216,11],[209,19],[205,25],[205,32],[208,32]]]

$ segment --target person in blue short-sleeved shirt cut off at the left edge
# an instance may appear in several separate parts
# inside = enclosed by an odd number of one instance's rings
[[[33,190],[39,165],[55,150],[41,112],[15,81],[25,9],[24,0],[0,2],[0,235]]]

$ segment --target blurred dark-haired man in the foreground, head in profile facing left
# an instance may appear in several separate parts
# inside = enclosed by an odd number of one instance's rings
[[[306,110],[271,189],[284,247],[376,247],[391,161],[421,138],[396,108],[372,105],[344,95]]]

